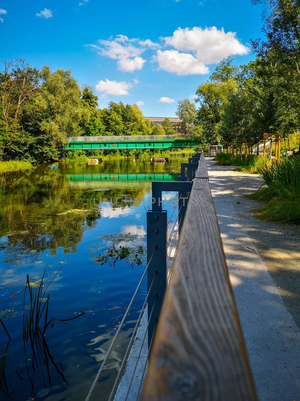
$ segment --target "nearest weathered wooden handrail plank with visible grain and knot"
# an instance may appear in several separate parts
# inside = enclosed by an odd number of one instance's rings
[[[207,178],[194,179],[142,400],[257,400]]]

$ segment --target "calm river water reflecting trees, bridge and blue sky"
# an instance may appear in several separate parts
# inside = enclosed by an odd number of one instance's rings
[[[0,399],[85,399],[146,266],[151,182],[177,180],[186,161],[56,163],[0,176]],[[174,194],[166,198],[172,211]],[[113,246],[129,255],[116,257]],[[43,274],[34,326],[30,305]],[[146,280],[94,399],[110,393],[145,294]]]

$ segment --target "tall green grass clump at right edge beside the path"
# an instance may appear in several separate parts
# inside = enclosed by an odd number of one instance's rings
[[[300,157],[290,156],[259,168],[265,188],[249,198],[266,203],[257,210],[264,221],[300,224]]]

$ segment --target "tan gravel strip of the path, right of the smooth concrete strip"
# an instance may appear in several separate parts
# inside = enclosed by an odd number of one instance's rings
[[[206,162],[211,187],[214,188],[217,182],[222,183],[222,191],[231,199],[238,223],[252,239],[274,283],[279,287],[285,307],[300,328],[300,227],[270,223],[255,217],[254,210],[261,204],[244,196],[256,192],[262,185],[258,174],[235,172],[232,171],[234,167],[217,166],[212,159]]]

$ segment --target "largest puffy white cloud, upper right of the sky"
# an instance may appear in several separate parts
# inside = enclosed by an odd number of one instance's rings
[[[202,29],[178,28],[172,36],[163,38],[166,45],[177,50],[192,51],[205,64],[219,63],[230,55],[246,55],[250,49],[236,37],[236,32],[225,32],[216,26]]]

